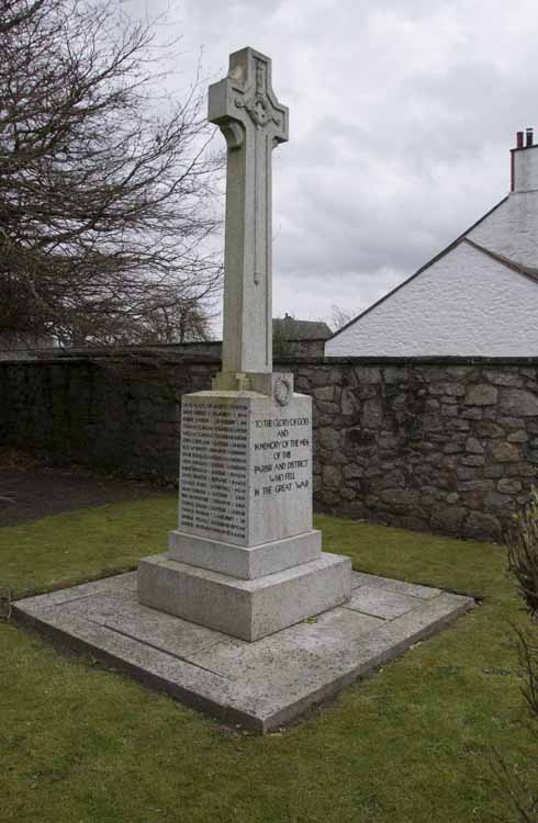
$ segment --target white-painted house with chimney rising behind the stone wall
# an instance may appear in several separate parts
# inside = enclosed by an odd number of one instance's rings
[[[327,356],[538,356],[538,144],[491,212],[325,345]]]

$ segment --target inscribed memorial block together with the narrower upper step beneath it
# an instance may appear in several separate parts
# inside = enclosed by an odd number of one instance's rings
[[[186,397],[170,556],[226,573],[235,559],[233,574],[245,579],[314,560],[311,440],[310,397],[284,407],[256,392]]]

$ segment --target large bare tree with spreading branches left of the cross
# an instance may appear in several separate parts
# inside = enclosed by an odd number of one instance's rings
[[[198,83],[157,98],[153,43],[112,3],[0,0],[0,336],[208,334],[222,158]]]

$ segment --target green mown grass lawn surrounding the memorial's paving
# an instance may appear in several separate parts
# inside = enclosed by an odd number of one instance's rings
[[[176,499],[0,529],[21,597],[164,550]],[[513,820],[492,770],[538,782],[511,622],[528,619],[500,546],[317,517],[357,570],[483,598],[449,629],[266,737],[224,729],[0,621],[2,823],[367,823]]]

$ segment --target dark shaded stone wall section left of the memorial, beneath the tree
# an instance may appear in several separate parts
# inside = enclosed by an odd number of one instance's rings
[[[178,475],[179,402],[216,358],[117,352],[0,362],[0,444],[100,471]]]

